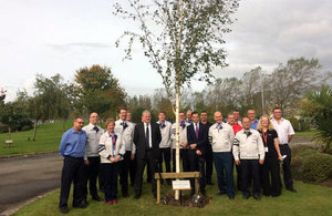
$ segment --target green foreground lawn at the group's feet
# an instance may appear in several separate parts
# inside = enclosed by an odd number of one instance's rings
[[[252,197],[245,200],[236,192],[236,198],[230,200],[226,195],[216,195],[218,189],[215,184],[207,186],[207,194],[212,197],[210,204],[204,208],[189,208],[155,205],[151,185],[144,183],[141,199],[133,198],[134,191],[131,187],[132,196],[123,198],[118,194],[118,204],[114,205],[97,203],[89,197],[89,207],[76,209],[71,207],[71,195],[69,215],[332,215],[332,188],[299,182],[295,182],[295,188],[298,193],[283,189],[280,197],[262,197],[260,202]],[[162,192],[168,193],[170,187],[162,186]],[[58,204],[59,191],[24,206],[15,215],[61,215]]]

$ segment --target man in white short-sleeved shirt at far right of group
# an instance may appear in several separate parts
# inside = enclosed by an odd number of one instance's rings
[[[293,179],[291,174],[291,150],[289,142],[292,140],[292,135],[295,134],[290,121],[282,117],[282,110],[280,107],[273,109],[272,124],[278,133],[278,141],[281,155],[286,155],[282,161],[283,181],[287,189],[295,193],[293,187]]]

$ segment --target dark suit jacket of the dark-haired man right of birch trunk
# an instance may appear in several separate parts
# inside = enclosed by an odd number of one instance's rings
[[[196,137],[194,123],[187,126],[187,138],[188,138],[188,145],[190,144],[197,144],[196,150],[199,150],[201,154],[204,155],[206,153],[206,145],[208,143],[208,126],[205,124],[201,124],[199,122],[198,126],[198,138]],[[191,148],[189,148],[193,151]],[[195,150],[195,151],[196,151]]]

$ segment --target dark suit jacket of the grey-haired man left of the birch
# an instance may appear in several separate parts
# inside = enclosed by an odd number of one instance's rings
[[[151,122],[151,133],[152,133],[152,152],[155,158],[159,156],[159,143],[162,142],[162,134],[159,125]],[[136,145],[136,157],[144,158],[145,157],[145,131],[144,123],[141,122],[136,124],[134,131],[134,144]]]

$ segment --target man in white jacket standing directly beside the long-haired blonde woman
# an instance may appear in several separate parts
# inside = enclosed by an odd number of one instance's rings
[[[241,166],[241,191],[243,198],[248,199],[250,197],[249,176],[252,176],[252,196],[255,199],[259,200],[259,164],[264,163],[264,146],[259,132],[250,128],[250,121],[248,117],[242,119],[242,126],[243,130],[239,131],[235,137],[232,154],[235,163]]]

